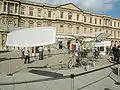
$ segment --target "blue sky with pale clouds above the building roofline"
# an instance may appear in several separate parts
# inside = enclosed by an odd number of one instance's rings
[[[74,3],[83,10],[120,18],[120,0],[29,0],[33,2],[64,4]]]

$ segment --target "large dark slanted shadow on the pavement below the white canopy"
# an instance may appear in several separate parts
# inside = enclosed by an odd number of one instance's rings
[[[31,70],[29,72],[33,73],[33,74],[37,74],[37,75],[54,77],[54,78],[62,77],[63,76],[63,74],[60,74],[60,73],[49,72],[49,71],[42,71],[42,70]]]

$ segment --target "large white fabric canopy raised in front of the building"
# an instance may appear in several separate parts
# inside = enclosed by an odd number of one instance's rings
[[[7,46],[34,47],[55,43],[56,29],[37,27],[19,29],[7,34]]]

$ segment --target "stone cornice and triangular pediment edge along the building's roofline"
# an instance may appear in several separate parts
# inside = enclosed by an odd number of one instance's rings
[[[6,1],[14,1],[14,2],[21,2],[21,4],[27,4],[27,5],[34,5],[34,6],[41,6],[41,7],[50,7],[50,8],[61,8],[64,10],[70,10],[70,11],[75,11],[75,12],[82,12],[83,14],[89,14],[90,16],[96,16],[96,17],[104,17],[104,18],[110,18],[113,20],[120,20],[120,18],[114,18],[112,16],[107,16],[107,15],[99,15],[99,14],[95,14],[89,11],[85,11],[83,9],[80,9],[79,7],[77,7],[75,4],[73,3],[66,3],[66,4],[61,4],[61,5],[53,5],[53,4],[48,4],[48,3],[36,3],[36,2],[31,2],[31,1],[26,1],[26,0],[6,0]],[[72,4],[73,6],[75,6],[76,8],[78,8],[79,10],[73,10],[73,9],[68,9],[68,8],[63,8],[61,6],[65,6],[65,5],[69,5]]]

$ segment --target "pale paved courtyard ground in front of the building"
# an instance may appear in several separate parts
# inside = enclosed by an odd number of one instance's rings
[[[89,66],[87,71],[84,67],[68,69],[69,57],[65,52],[52,51],[52,57],[44,56],[44,60],[31,58],[31,64],[24,64],[24,59],[18,58],[21,57],[20,51],[0,53],[0,90],[120,90],[117,65],[77,76],[72,87],[70,74],[88,72],[113,63],[103,58],[95,60],[95,66]],[[13,75],[7,76],[9,73]]]

